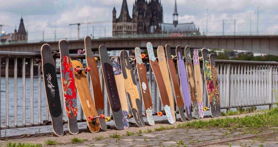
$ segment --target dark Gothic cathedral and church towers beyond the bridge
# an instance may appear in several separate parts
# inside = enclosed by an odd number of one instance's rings
[[[178,24],[177,1],[173,13],[173,24],[163,22],[163,7],[160,0],[135,0],[132,18],[128,14],[126,0],[123,0],[120,16],[116,18],[113,8],[113,36],[136,34],[168,34],[169,36],[200,35],[199,28],[191,23]]]

